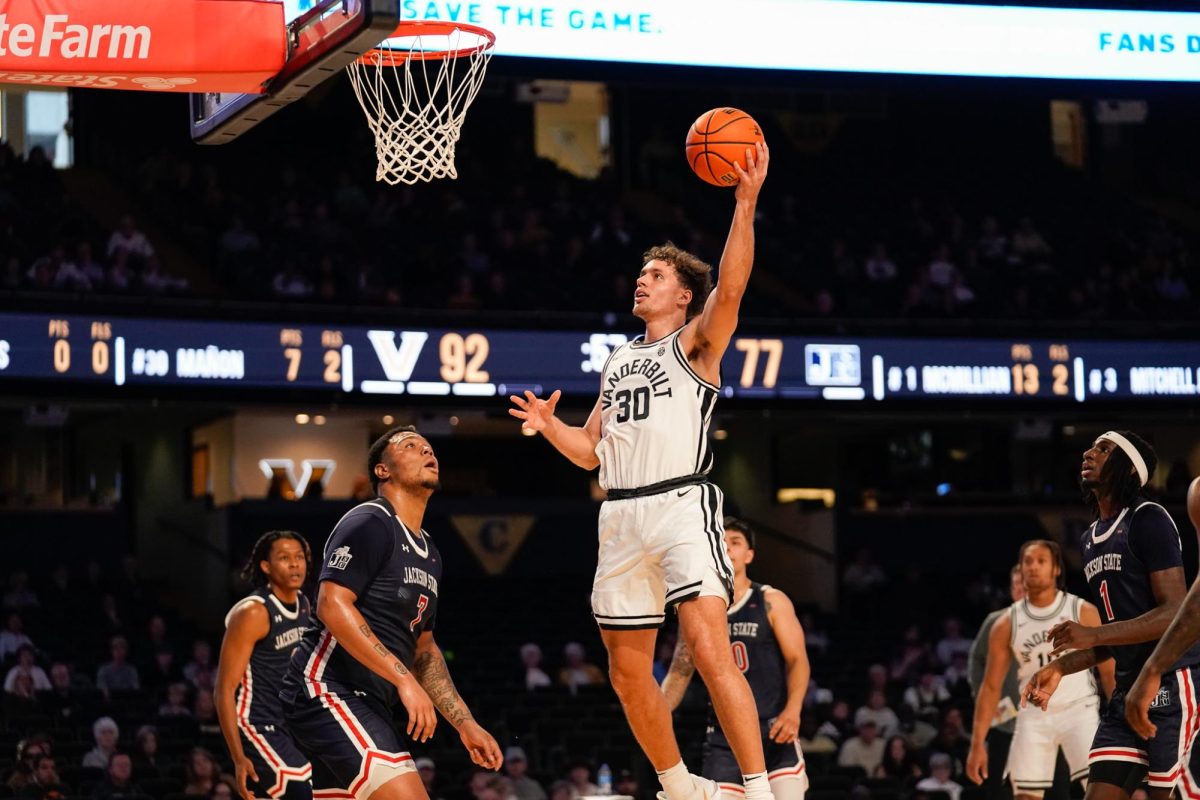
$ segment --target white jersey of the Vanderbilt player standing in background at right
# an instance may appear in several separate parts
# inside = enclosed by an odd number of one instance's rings
[[[1021,686],[1025,686],[1033,673],[1042,669],[1055,658],[1050,657],[1054,645],[1050,643],[1050,628],[1058,622],[1079,621],[1079,608],[1082,599],[1076,595],[1058,591],[1054,602],[1045,608],[1031,606],[1028,600],[1019,600],[1010,607],[1013,624],[1013,657],[1016,658],[1016,675]],[[1057,658],[1070,652],[1066,650],[1058,654]],[[1097,697],[1096,680],[1091,670],[1076,672],[1064,675],[1058,688],[1050,696],[1050,708],[1055,711],[1068,705]],[[1030,710],[1040,714],[1031,703],[1022,712]]]

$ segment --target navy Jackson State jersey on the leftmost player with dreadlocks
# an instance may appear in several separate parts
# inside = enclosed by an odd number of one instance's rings
[[[266,587],[240,600],[226,615],[229,618],[245,603],[262,603],[266,609],[270,628],[254,643],[246,672],[238,684],[235,703],[238,718],[251,724],[275,724],[283,718],[280,687],[288,672],[292,651],[300,644],[305,631],[312,626],[312,608],[304,594],[296,594],[294,606],[288,606]]]

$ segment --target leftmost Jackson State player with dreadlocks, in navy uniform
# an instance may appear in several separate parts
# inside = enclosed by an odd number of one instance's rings
[[[256,589],[226,615],[216,706],[245,800],[312,798],[312,765],[283,729],[280,705],[292,651],[311,625],[312,609],[300,591],[311,561],[300,534],[263,534],[241,572]]]

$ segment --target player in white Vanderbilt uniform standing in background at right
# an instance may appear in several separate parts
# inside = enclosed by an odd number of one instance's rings
[[[1012,661],[1015,658],[1018,680],[1024,684],[1050,662],[1054,650],[1050,631],[1058,622],[1100,624],[1096,606],[1062,590],[1062,549],[1057,542],[1042,539],[1025,542],[1019,564],[1026,595],[991,627],[988,666],[976,697],[971,752],[967,756],[967,777],[976,783],[988,778],[990,765],[985,739]],[[1112,662],[1105,661],[1098,668],[1108,697],[1114,686]],[[1092,673],[1078,672],[1062,680],[1045,712],[1032,705],[1018,712],[1007,768],[1016,800],[1038,800],[1054,786],[1060,748],[1067,758],[1070,780],[1086,780],[1092,738],[1100,724],[1099,706],[1100,698]],[[1002,764],[994,766],[1004,769]]]

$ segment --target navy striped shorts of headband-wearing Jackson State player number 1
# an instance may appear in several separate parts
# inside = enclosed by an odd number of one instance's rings
[[[1183,756],[1192,747],[1200,728],[1196,706],[1196,680],[1200,666],[1165,673],[1158,697],[1150,705],[1150,721],[1158,733],[1142,739],[1124,718],[1124,690],[1112,692],[1112,699],[1100,715],[1100,727],[1092,740],[1087,760],[1094,780],[1100,762],[1124,762],[1146,770],[1146,782],[1153,788],[1169,789],[1183,772]],[[1200,793],[1195,796],[1200,798]]]

